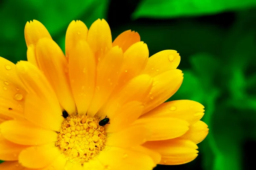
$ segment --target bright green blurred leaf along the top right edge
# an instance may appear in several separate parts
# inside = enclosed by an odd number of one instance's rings
[[[173,18],[256,6],[255,0],[141,0],[132,17]]]

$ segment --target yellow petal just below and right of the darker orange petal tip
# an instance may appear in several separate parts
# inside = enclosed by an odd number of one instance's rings
[[[124,62],[116,89],[121,88],[130,79],[144,71],[148,62],[148,46],[144,42],[136,42],[124,53]]]

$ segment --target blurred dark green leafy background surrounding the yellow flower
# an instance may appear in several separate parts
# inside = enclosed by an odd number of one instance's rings
[[[113,39],[139,32],[150,55],[180,53],[174,99],[205,106],[209,135],[194,161],[154,170],[253,170],[256,152],[256,0],[0,0],[0,56],[26,60],[24,26],[39,20],[64,50],[72,20],[108,21]],[[253,155],[253,156],[251,156]]]

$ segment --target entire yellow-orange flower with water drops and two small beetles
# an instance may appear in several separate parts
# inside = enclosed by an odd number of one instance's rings
[[[163,103],[183,81],[177,51],[148,58],[137,32],[112,42],[105,20],[72,21],[66,55],[36,20],[25,39],[28,61],[0,57],[1,170],[151,170],[198,155],[204,106]]]

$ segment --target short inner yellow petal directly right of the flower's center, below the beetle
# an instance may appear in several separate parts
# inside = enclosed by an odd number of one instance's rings
[[[134,125],[108,136],[107,145],[115,147],[134,147],[150,139],[151,132],[145,125]]]

